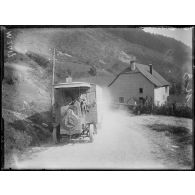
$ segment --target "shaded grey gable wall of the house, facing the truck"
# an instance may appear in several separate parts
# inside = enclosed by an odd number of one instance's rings
[[[143,88],[143,93],[139,92],[139,88]],[[133,97],[139,99],[148,96],[154,100],[154,85],[139,72],[120,75],[110,86],[110,92],[115,103],[119,103],[119,97],[124,97],[125,103]]]

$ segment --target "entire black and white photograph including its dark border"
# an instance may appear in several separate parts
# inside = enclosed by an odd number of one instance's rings
[[[192,26],[1,26],[2,170],[192,170]]]

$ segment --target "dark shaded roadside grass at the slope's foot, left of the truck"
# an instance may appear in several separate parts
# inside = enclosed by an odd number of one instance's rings
[[[5,112],[5,111],[4,111]],[[14,120],[4,120],[4,165],[5,168],[14,166],[14,156],[20,156],[29,147],[40,146],[51,142],[50,112],[35,113],[34,115]],[[9,119],[10,119],[9,117]]]

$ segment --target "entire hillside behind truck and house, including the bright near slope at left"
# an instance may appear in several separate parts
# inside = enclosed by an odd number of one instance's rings
[[[134,57],[140,63],[152,63],[160,74],[179,87],[183,74],[186,71],[191,73],[190,48],[142,29],[40,28],[12,29],[11,33],[16,55],[8,57],[5,39],[3,116],[5,122],[10,123],[7,112],[12,113],[13,118],[24,115],[31,123],[40,125],[40,137],[44,125],[50,126],[51,123],[53,48],[57,51],[55,82],[64,82],[65,76],[71,73],[74,81],[108,86]],[[31,123],[20,118],[17,121],[20,122],[19,127],[13,121],[11,126],[27,131],[34,139],[27,128]],[[17,140],[17,136],[14,139]],[[33,141],[35,143],[36,139]]]

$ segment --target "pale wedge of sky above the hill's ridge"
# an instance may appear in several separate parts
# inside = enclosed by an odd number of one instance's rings
[[[163,36],[174,38],[183,42],[192,48],[192,28],[155,28],[147,27],[143,29],[145,32],[160,34]]]

